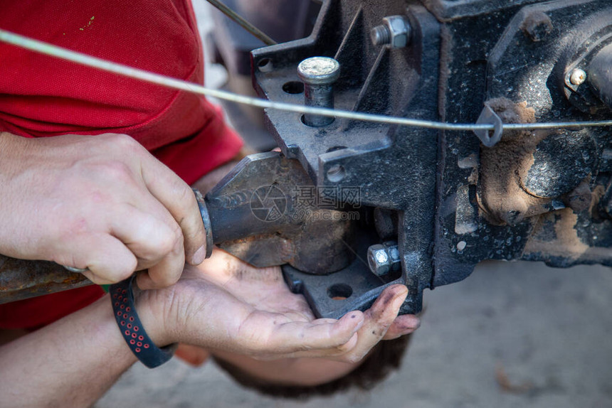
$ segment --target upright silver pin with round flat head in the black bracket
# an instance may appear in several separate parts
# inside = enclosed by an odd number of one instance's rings
[[[305,105],[334,108],[333,84],[340,77],[340,64],[334,58],[312,57],[297,65],[297,76],[304,82]],[[304,123],[322,127],[334,122],[333,117],[304,114]]]

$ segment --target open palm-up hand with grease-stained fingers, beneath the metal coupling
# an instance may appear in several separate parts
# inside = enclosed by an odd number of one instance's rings
[[[137,308],[159,345],[181,341],[258,359],[355,363],[379,340],[418,327],[416,316],[397,316],[406,294],[405,286],[391,286],[365,313],[315,319],[305,298],[287,289],[280,268],[256,269],[215,250],[199,267],[187,268],[176,285],[142,293]]]

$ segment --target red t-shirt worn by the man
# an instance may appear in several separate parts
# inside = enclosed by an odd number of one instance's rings
[[[203,83],[189,0],[6,0],[0,28],[135,68]],[[0,43],[0,131],[24,137],[129,134],[187,183],[236,156],[221,111],[184,91]],[[0,328],[51,323],[97,286],[0,305]]]

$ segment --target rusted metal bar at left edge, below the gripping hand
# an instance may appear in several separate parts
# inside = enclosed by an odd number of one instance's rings
[[[0,304],[93,284],[55,262],[26,261],[0,255]]]

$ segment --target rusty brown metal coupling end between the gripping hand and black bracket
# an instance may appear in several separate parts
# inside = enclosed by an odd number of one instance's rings
[[[354,258],[355,226],[317,208],[317,193],[299,161],[276,151],[248,156],[206,194],[213,240],[255,267],[336,272]]]

